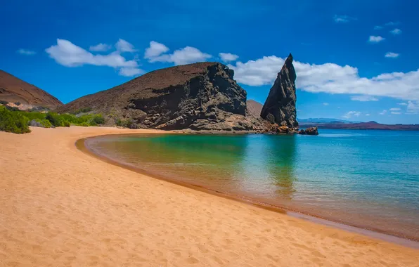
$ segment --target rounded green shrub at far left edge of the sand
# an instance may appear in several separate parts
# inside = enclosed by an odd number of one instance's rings
[[[13,112],[3,106],[0,107],[0,131],[30,133],[28,123],[29,119],[19,112]]]

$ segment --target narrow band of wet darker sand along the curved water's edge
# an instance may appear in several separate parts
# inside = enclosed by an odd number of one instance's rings
[[[146,134],[146,133],[144,133]],[[172,134],[195,134],[195,133],[179,133],[174,132]],[[120,136],[129,136],[129,135],[137,135],[136,133],[127,133],[127,134],[121,134]],[[174,178],[167,178],[166,176],[162,174],[158,174],[157,172],[148,171],[146,169],[141,169],[141,167],[137,167],[134,164],[129,164],[127,162],[123,162],[117,159],[113,159],[112,157],[108,157],[104,154],[101,154],[100,152],[95,151],[93,148],[89,147],[89,145],[86,143],[88,139],[94,139],[94,138],[101,138],[108,135],[103,136],[91,136],[87,138],[82,138],[76,141],[75,145],[76,147],[81,150],[82,152],[86,153],[87,155],[90,155],[91,157],[96,157],[97,159],[101,159],[103,162],[107,162],[109,164],[113,164],[118,167],[122,167],[125,169],[129,169],[130,171],[135,171],[138,174],[143,174],[146,176],[150,176],[152,178],[156,178],[162,181],[167,181],[169,183],[174,183],[176,185],[181,185],[186,188],[191,188],[194,190],[199,190],[204,193],[208,193],[211,195],[216,195],[218,197],[224,197],[228,200],[235,200],[238,202],[243,202],[245,204],[250,204],[255,207],[259,207],[262,209],[267,209],[269,211],[275,211],[281,214],[287,214],[288,216],[292,216],[299,219],[304,219],[306,221],[311,221],[314,223],[319,223],[324,226],[332,226],[334,228],[338,228],[341,230],[346,230],[351,233],[357,233],[361,235],[366,235],[368,237],[377,238],[386,242],[392,242],[394,244],[403,245],[405,247],[411,247],[415,249],[419,249],[419,242],[418,240],[414,240],[408,237],[399,236],[399,235],[392,235],[391,233],[386,233],[384,231],[380,231],[375,228],[363,228],[360,226],[356,226],[356,224],[350,224],[350,223],[342,223],[340,221],[333,221],[328,218],[323,218],[321,216],[316,216],[315,214],[308,214],[303,211],[299,211],[297,209],[290,209],[288,207],[282,207],[279,205],[269,204],[263,201],[259,201],[257,199],[254,199],[252,197],[245,197],[242,195],[233,195],[225,192],[221,192],[219,190],[214,190],[212,188],[207,188],[204,185],[198,185],[193,183],[188,183],[186,181],[176,180]],[[112,135],[113,136],[113,135]]]

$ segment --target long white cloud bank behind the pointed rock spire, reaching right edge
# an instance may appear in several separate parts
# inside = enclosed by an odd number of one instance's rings
[[[234,70],[235,79],[240,84],[262,86],[273,84],[284,62],[283,58],[264,56],[246,63],[238,61],[228,67]],[[294,66],[297,88],[303,91],[419,100],[419,70],[384,73],[366,78],[360,77],[358,69],[349,65],[316,65],[295,61]]]

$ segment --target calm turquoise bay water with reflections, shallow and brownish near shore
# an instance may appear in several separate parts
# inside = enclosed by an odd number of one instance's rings
[[[169,179],[419,240],[418,131],[129,135],[86,144]]]

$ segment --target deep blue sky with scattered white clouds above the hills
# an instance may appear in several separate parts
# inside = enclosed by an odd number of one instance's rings
[[[63,103],[204,60],[264,103],[291,52],[297,117],[419,123],[413,0],[1,2],[0,69]]]

